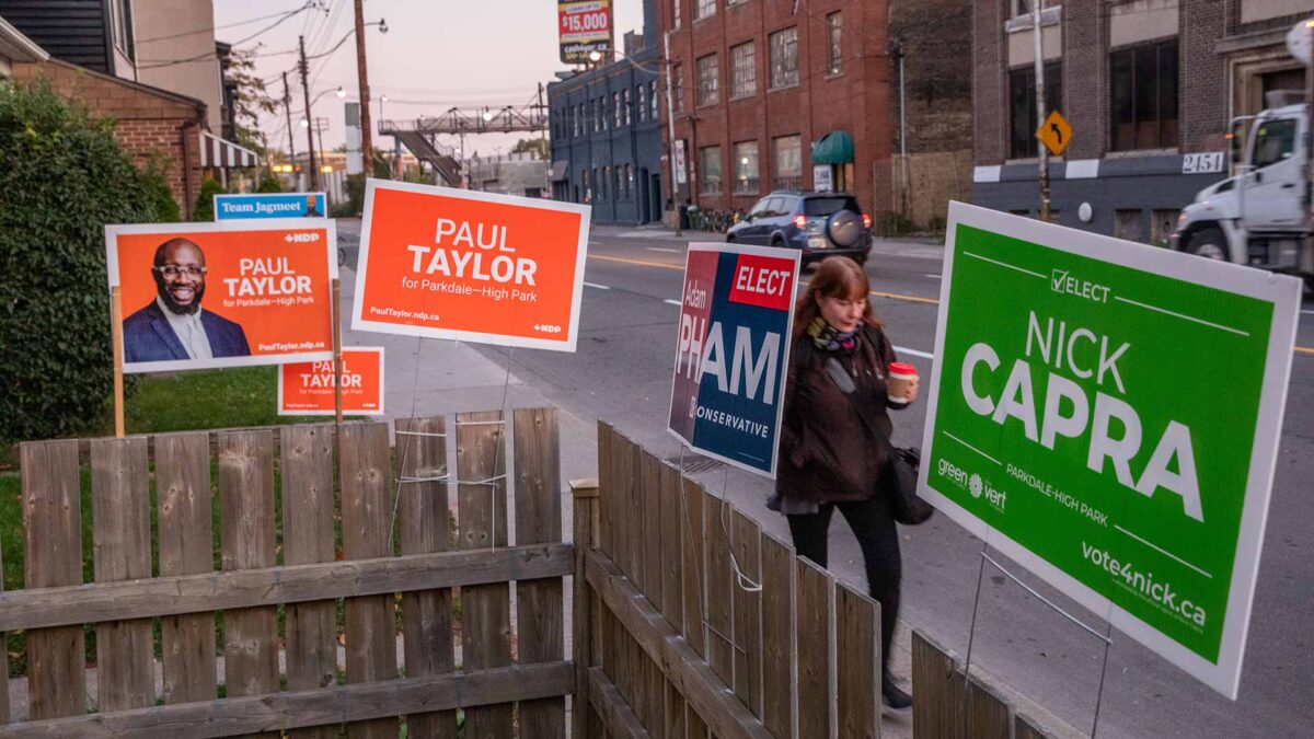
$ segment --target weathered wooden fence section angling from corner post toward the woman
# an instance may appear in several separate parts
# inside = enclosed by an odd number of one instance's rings
[[[875,601],[606,423],[598,473],[576,496],[574,736],[880,735]]]

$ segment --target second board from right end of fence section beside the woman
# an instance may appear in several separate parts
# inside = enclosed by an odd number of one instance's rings
[[[799,736],[829,736],[834,580],[808,559],[795,563]]]

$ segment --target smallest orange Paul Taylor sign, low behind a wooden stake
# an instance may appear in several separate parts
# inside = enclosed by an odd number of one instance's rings
[[[332,359],[297,362],[279,368],[279,416],[332,416]],[[342,350],[342,412],[384,414],[384,350],[356,346]]]

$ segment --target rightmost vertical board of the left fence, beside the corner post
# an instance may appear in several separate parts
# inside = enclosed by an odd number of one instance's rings
[[[555,408],[520,409],[515,434],[515,538],[519,544],[561,540],[561,444]],[[519,664],[565,657],[565,613],[560,577],[516,583]],[[564,738],[565,698],[526,701],[522,736]]]

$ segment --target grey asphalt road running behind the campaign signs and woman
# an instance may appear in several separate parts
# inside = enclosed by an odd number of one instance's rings
[[[356,225],[359,229],[359,225]],[[355,263],[352,224],[340,226]],[[595,229],[576,354],[516,351],[515,375],[581,418],[604,419],[670,458],[665,434],[685,242],[662,231]],[[882,245],[867,263],[874,306],[905,360],[929,376],[941,250]],[[807,279],[807,276],[804,276]],[[1297,343],[1314,347],[1314,304],[1306,301]],[[481,347],[507,362],[505,350]],[[1113,632],[1100,707],[1100,736],[1314,736],[1314,348],[1294,358],[1276,489],[1260,563],[1240,697],[1229,701],[1130,638]],[[917,444],[924,405],[895,417],[896,443]],[[763,527],[786,535],[766,510],[769,483],[724,468],[702,471]],[[838,521],[838,517],[837,517]],[[848,527],[832,530],[832,569],[862,583],[861,554]],[[959,654],[967,650],[980,540],[943,515],[905,529],[901,617]],[[1008,561],[1008,560],[1004,560]],[[1095,626],[1104,622],[1013,568],[1024,581]],[[1102,642],[1047,609],[991,568],[976,613],[974,664],[997,675],[1072,726],[1091,731]],[[979,661],[978,661],[979,660]]]

